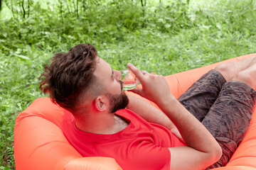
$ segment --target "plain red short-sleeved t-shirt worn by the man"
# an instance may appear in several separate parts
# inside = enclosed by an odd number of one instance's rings
[[[112,157],[124,170],[170,169],[169,147],[185,146],[164,126],[148,123],[127,109],[116,112],[129,121],[124,130],[113,135],[83,132],[75,119],[65,112],[63,132],[82,157]]]

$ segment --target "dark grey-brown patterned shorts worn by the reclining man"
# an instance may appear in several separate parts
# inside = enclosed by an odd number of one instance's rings
[[[208,169],[225,166],[250,125],[256,92],[240,81],[226,82],[215,69],[178,98],[218,141],[223,155]]]

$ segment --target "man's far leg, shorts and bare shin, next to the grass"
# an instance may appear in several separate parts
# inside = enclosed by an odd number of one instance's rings
[[[246,69],[256,57],[250,57],[239,62],[220,64],[198,79],[178,101],[185,106],[198,120],[202,121],[215,102],[226,81],[230,81],[242,70]]]

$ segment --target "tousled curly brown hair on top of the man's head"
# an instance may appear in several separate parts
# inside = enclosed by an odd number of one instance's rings
[[[40,89],[59,106],[73,111],[79,95],[96,81],[97,50],[90,44],[79,44],[68,53],[60,52],[52,58],[50,66],[44,68],[45,77],[40,82]],[[40,77],[40,78],[41,78]]]

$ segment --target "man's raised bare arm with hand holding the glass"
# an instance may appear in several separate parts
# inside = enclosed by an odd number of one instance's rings
[[[221,148],[210,132],[199,122],[169,91],[164,77],[153,74],[142,74],[134,65],[128,64],[129,69],[142,84],[142,89],[132,91],[161,108],[181,132],[187,147],[169,148],[171,152],[171,169],[205,169],[221,157]]]

